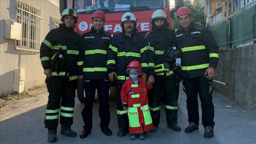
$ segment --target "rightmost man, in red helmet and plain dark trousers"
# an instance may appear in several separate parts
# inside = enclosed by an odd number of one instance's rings
[[[187,94],[187,114],[189,125],[186,133],[198,129],[199,112],[197,94],[202,108],[204,137],[213,137],[214,106],[212,101],[213,77],[219,61],[219,48],[212,32],[206,27],[192,23],[191,11],[181,7],[176,14],[180,27],[175,42],[182,51],[181,74],[183,91]]]

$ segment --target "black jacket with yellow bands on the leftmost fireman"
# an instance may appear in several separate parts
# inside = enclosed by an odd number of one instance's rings
[[[67,28],[59,24],[59,28],[52,29],[46,35],[40,47],[40,60],[43,69],[50,69],[54,58],[63,56],[64,65],[59,69],[59,75],[52,66],[53,77],[78,79],[79,34],[74,28]],[[59,51],[59,45],[61,50]],[[59,60],[59,59],[58,59]]]

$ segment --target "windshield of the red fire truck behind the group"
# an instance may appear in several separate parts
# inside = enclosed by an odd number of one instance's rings
[[[74,8],[78,13],[90,13],[97,10],[104,13],[125,11],[148,11],[164,9],[167,0],[74,0]]]

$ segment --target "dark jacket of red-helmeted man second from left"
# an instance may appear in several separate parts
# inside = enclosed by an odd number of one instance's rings
[[[79,75],[85,80],[108,80],[107,49],[110,43],[110,33],[102,30],[97,33],[94,27],[81,35],[79,47],[81,54],[79,61]]]

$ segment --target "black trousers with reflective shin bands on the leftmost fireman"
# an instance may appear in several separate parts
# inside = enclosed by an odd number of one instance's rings
[[[45,114],[45,128],[71,126],[74,118],[75,89],[77,80],[69,81],[68,78],[46,78],[45,83],[49,92]],[[60,109],[60,120],[59,120]]]

